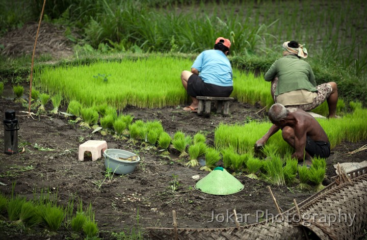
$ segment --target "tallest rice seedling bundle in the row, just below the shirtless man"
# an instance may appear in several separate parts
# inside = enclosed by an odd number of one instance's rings
[[[271,159],[265,161],[266,175],[265,179],[270,181],[273,185],[284,185],[285,178],[283,173],[283,161],[279,155],[274,153]]]

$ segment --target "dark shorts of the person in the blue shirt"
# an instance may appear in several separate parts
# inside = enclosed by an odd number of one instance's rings
[[[233,86],[222,87],[215,84],[207,84],[196,74],[192,74],[188,79],[187,92],[192,97],[229,97],[232,91]]]

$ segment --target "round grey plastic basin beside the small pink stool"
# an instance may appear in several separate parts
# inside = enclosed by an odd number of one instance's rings
[[[140,162],[140,157],[136,159],[136,161],[125,161],[119,159],[119,157],[127,158],[130,156],[137,156],[136,154],[120,150],[120,149],[107,149],[103,152],[104,156],[104,167],[106,169],[111,169],[111,172],[114,174],[125,175],[134,172],[136,166]]]

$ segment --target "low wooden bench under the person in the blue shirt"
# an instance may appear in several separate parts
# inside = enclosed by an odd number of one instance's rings
[[[204,97],[204,96],[197,96],[196,99],[199,100],[198,106],[198,114],[202,114],[204,111],[205,106],[205,114],[211,113],[211,104],[212,101],[217,101],[217,113],[222,112],[223,106],[223,115],[229,114],[229,102],[234,100],[233,97]]]

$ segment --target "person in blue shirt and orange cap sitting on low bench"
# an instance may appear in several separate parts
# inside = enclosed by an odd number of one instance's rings
[[[184,111],[197,112],[196,96],[229,97],[233,91],[232,67],[227,58],[231,42],[217,38],[214,49],[205,50],[196,58],[190,71],[182,71],[181,82],[192,99]]]

